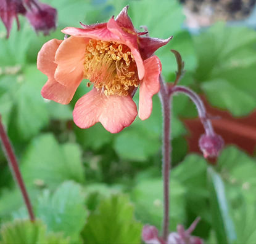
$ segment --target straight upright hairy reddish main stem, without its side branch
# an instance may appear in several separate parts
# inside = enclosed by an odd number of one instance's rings
[[[171,168],[171,138],[170,138],[170,121],[171,121],[171,100],[168,95],[167,85],[160,80],[160,100],[163,112],[163,143],[162,143],[162,175],[163,175],[163,240],[167,241],[169,230],[169,211],[170,211],[170,168]]]

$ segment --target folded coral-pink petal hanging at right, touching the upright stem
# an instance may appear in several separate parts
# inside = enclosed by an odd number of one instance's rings
[[[152,96],[159,92],[159,75],[162,65],[157,56],[144,61],[145,76],[139,87],[139,118],[148,119],[152,111]]]

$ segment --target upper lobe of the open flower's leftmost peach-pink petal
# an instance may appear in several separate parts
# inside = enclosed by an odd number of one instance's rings
[[[52,39],[46,42],[38,52],[37,66],[39,71],[46,74],[46,76],[54,76],[57,68],[54,58],[61,42],[62,40]]]

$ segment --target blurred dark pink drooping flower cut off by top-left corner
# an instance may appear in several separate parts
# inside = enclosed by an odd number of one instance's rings
[[[4,26],[6,26],[7,38],[9,37],[14,18],[17,21],[18,30],[20,28],[18,14],[26,14],[26,9],[21,0],[0,0],[0,17]]]

